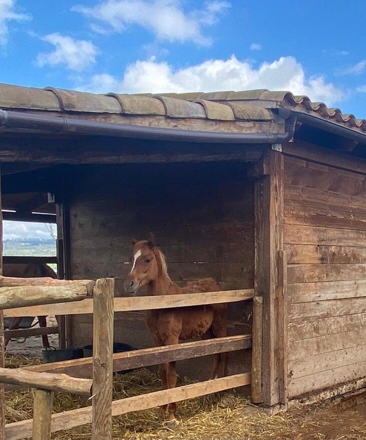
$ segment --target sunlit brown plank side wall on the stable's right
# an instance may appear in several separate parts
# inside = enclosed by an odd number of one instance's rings
[[[285,157],[288,394],[366,371],[366,175]]]

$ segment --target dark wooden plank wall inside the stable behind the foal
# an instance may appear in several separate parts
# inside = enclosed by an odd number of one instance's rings
[[[70,200],[72,278],[114,277],[115,295],[125,295],[130,239],[151,231],[174,281],[212,277],[223,290],[252,288],[253,182],[245,173],[242,162],[79,166]],[[228,333],[250,333],[250,302],[229,307]],[[114,322],[115,342],[153,345],[144,312],[116,313]],[[72,344],[90,344],[91,316],[72,317],[72,329]],[[249,368],[249,355],[230,355],[229,372]],[[180,373],[195,372],[197,361]],[[199,379],[206,362],[198,361]]]

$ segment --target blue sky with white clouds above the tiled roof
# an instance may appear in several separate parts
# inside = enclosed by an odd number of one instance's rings
[[[0,82],[269,88],[366,117],[364,0],[0,0]]]

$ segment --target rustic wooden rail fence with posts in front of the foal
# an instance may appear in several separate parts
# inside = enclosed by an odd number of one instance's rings
[[[31,289],[34,284],[37,288],[44,287],[43,295],[38,296],[38,305],[26,307],[31,312],[42,304],[48,304],[49,298],[45,289],[52,289],[47,286],[47,280],[39,278],[34,279],[9,279],[0,277],[0,299],[2,295],[8,294],[6,287],[19,284],[18,289],[22,293],[22,301],[27,304],[24,289]],[[26,286],[24,284],[27,283]],[[93,357],[74,361],[63,361],[54,364],[38,365],[34,367],[25,367],[17,369],[0,368],[0,384],[15,385],[20,388],[34,388],[34,410],[33,419],[10,423],[4,425],[3,414],[1,419],[2,436],[6,440],[19,440],[32,436],[33,440],[50,440],[52,432],[57,432],[69,428],[74,428],[87,423],[92,424],[92,438],[108,440],[112,433],[112,416],[126,414],[132,411],[141,411],[148,408],[154,408],[159,405],[171,402],[216,393],[230,388],[242,387],[250,384],[250,373],[240,373],[214,379],[210,381],[185,385],[170,390],[152,392],[141,396],[134,396],[126,399],[112,401],[112,372],[120,368],[139,368],[149,365],[155,365],[158,362],[168,362],[172,360],[196,358],[208,354],[232,352],[250,347],[251,335],[241,335],[234,337],[217,338],[212,341],[197,341],[165,347],[155,347],[153,349],[135,350],[128,353],[112,355],[113,343],[113,315],[114,311],[126,312],[129,310],[142,309],[160,309],[169,308],[172,305],[197,305],[212,304],[218,302],[232,303],[236,301],[248,300],[253,298],[253,289],[246,291],[230,292],[206,292],[203,294],[162,295],[157,297],[142,298],[120,298],[121,301],[114,301],[114,280],[112,278],[98,279],[93,288],[92,299],[82,299],[79,295],[83,291],[83,297],[86,296],[90,288],[90,282],[63,281],[58,280],[60,300],[58,304],[59,311],[62,314],[68,313],[68,303],[70,302],[69,290],[73,289],[77,295],[74,295],[72,301],[79,301],[81,307],[76,306],[74,314],[80,314],[83,307],[93,314]],[[93,283],[92,283],[93,284]],[[52,291],[51,291],[52,293]],[[175,298],[175,304],[174,300]],[[158,299],[159,301],[155,301]],[[22,301],[18,299],[15,309],[9,313],[24,313],[21,310]],[[88,301],[89,304],[84,304]],[[258,316],[261,314],[260,301],[254,308],[255,322],[260,324]],[[259,307],[258,307],[259,306]],[[63,310],[61,310],[64,308]],[[23,308],[24,309],[24,308]],[[32,310],[33,309],[33,310]],[[258,316],[257,316],[258,315]],[[253,327],[255,340],[261,339],[261,325]],[[260,343],[257,343],[257,353],[260,353]],[[255,344],[253,345],[255,349]],[[128,355],[128,356],[127,356]],[[260,396],[260,387],[258,387],[258,371],[260,369],[260,358],[254,357],[253,369],[254,382],[252,386],[256,395]],[[91,369],[92,366],[92,369]],[[87,368],[89,367],[89,368]],[[119,368],[120,367],[120,368]],[[91,370],[91,371],[90,371]],[[47,371],[47,372],[46,372]],[[60,374],[66,371],[69,375]],[[81,379],[77,376],[92,376],[90,379]],[[76,376],[76,377],[73,377]],[[85,407],[77,410],[66,411],[52,415],[53,392],[73,393],[89,396],[92,400],[91,407]]]

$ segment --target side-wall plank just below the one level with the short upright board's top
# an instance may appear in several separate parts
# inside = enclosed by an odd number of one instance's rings
[[[290,264],[288,284],[319,281],[365,280],[366,264]]]

